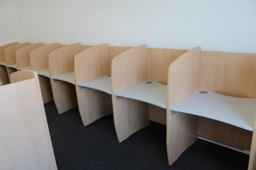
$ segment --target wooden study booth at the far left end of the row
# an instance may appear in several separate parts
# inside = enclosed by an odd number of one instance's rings
[[[16,44],[19,44],[19,42],[13,42],[0,46],[0,78],[2,80],[3,85],[10,84],[10,80],[6,69],[5,49]]]

